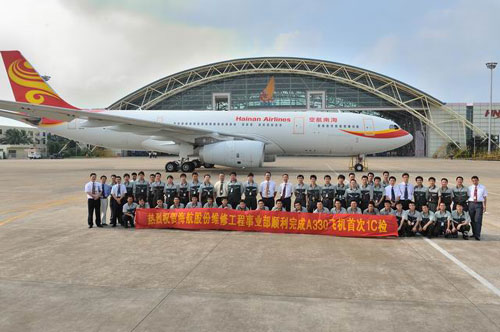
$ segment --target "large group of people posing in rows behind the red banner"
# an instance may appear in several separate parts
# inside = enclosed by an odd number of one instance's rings
[[[456,184],[449,186],[448,179],[442,178],[440,185],[434,177],[424,185],[422,176],[410,183],[410,175],[403,173],[401,182],[389,172],[382,177],[369,172],[361,176],[355,173],[337,176],[332,183],[330,175],[323,177],[323,184],[317,183],[317,176],[310,175],[309,183],[304,176],[297,176],[297,183],[290,182],[288,174],[281,176],[277,184],[271,179],[271,172],[265,173],[261,183],[254,181],[249,173],[246,181],[240,181],[236,172],[226,179],[220,173],[212,184],[210,174],[199,178],[197,172],[180,175],[180,181],[168,175],[166,182],[161,173],[150,174],[146,179],[144,172],[111,175],[111,183],[102,175],[97,181],[95,173],[85,185],[88,198],[88,224],[97,227],[106,224],[108,205],[111,211],[110,224],[116,227],[117,221],[123,227],[134,227],[135,210],[138,208],[184,209],[184,208],[223,208],[236,210],[270,210],[288,212],[308,212],[327,214],[370,214],[394,215],[398,221],[400,236],[414,236],[417,233],[428,237],[457,237],[462,233],[469,239],[471,231],[476,240],[481,238],[483,213],[486,211],[487,190],[473,176],[466,187],[463,177],[456,177]],[[292,205],[292,196],[294,197]],[[101,222],[102,221],[102,222]]]

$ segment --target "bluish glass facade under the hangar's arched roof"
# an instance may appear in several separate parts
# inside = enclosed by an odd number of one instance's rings
[[[261,93],[271,77],[275,79],[273,99],[261,101]],[[314,108],[318,92],[324,92],[326,108],[394,107],[393,104],[367,93],[362,89],[329,79],[297,74],[246,74],[225,78],[190,88],[164,99],[150,109],[162,110],[213,110],[213,95],[229,93],[231,110],[262,108],[305,109]],[[410,97],[408,97],[410,98]]]

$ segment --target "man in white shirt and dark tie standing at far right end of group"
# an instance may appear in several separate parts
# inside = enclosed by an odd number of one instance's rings
[[[481,240],[481,227],[483,225],[483,213],[486,212],[486,200],[488,191],[486,187],[479,184],[479,178],[474,175],[471,178],[472,185],[468,188],[469,216],[471,219],[474,238]]]

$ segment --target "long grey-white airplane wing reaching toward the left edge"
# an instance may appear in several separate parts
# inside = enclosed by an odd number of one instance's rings
[[[156,139],[168,139],[174,142],[194,144],[195,140],[200,138],[211,138],[215,140],[231,140],[235,138],[256,140],[255,137],[251,136],[177,126],[123,115],[114,115],[110,114],[110,112],[104,113],[100,110],[78,110],[4,100],[0,100],[0,109],[8,110],[10,113],[17,112],[28,114],[31,117],[45,117],[67,122],[76,118],[86,119],[87,121],[82,124],[83,127],[111,127],[112,130],[120,132],[154,136]],[[200,140],[197,140],[197,142],[197,144],[199,144]]]

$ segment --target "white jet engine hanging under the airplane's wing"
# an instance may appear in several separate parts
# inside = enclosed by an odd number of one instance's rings
[[[202,146],[198,156],[208,164],[260,167],[264,160],[264,143],[248,140],[217,142]]]

